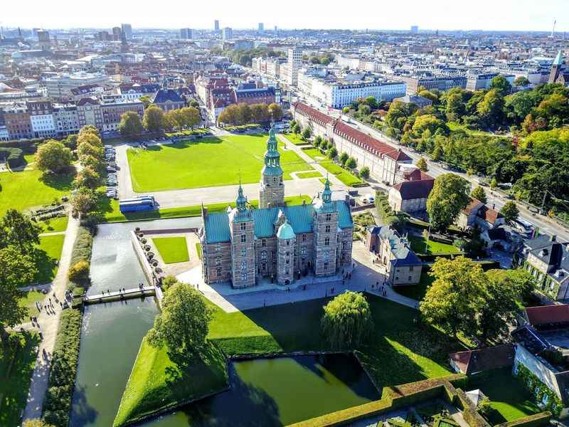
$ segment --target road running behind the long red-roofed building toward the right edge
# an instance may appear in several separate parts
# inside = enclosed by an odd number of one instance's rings
[[[306,99],[307,96],[304,95],[304,98]],[[480,178],[477,178],[475,176],[468,176],[467,174],[462,172],[451,171],[450,169],[444,167],[442,164],[432,161],[424,153],[421,154],[411,149],[408,149],[403,145],[400,145],[398,140],[390,138],[387,135],[385,135],[383,132],[376,130],[375,128],[368,126],[362,122],[358,122],[354,120],[352,117],[342,114],[341,111],[339,110],[332,110],[332,112],[330,112],[327,108],[322,107],[320,102],[314,99],[307,99],[307,101],[304,102],[308,102],[310,105],[312,105],[313,108],[316,108],[317,110],[320,110],[321,112],[324,112],[328,115],[334,115],[335,117],[341,116],[342,120],[344,120],[345,122],[349,122],[350,125],[356,127],[356,129],[361,130],[362,132],[366,132],[368,135],[371,135],[372,137],[381,139],[382,142],[385,142],[386,144],[389,144],[392,147],[401,149],[403,152],[405,152],[405,154],[407,154],[409,157],[411,157],[411,159],[413,159],[413,163],[416,163],[418,159],[420,159],[420,157],[425,157],[429,167],[428,174],[430,174],[435,178],[439,175],[448,174],[449,172],[452,172],[470,181],[470,183],[473,185],[473,188],[474,186],[477,186],[480,183]],[[500,210],[501,207],[504,206],[504,204],[506,204],[507,201],[509,201],[508,199],[506,199],[505,194],[502,193],[501,191],[495,191],[495,190],[491,191],[490,189],[486,189],[486,194],[488,195],[487,206],[496,210]],[[549,218],[548,216],[535,214],[529,211],[526,208],[526,206],[521,203],[517,203],[517,205],[520,210],[519,218],[525,221],[529,221],[534,226],[538,227],[541,233],[555,235],[558,236],[560,240],[569,241],[568,228],[561,226],[559,223]]]

